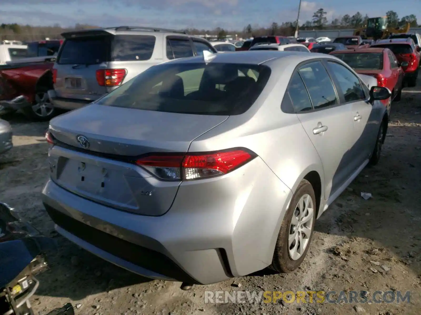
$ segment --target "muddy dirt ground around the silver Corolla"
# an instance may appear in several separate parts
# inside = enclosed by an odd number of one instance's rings
[[[78,248],[53,231],[40,201],[47,180],[48,123],[13,125],[10,152],[0,156],[0,197],[19,210],[59,251],[32,304],[40,314],[72,302],[77,315],[114,314],[419,314],[421,309],[421,88],[405,89],[392,105],[380,163],[365,169],[316,223],[309,253],[290,274],[254,275],[181,291],[180,283],[136,276]],[[361,192],[372,198],[365,200]],[[387,270],[387,271],[385,271]],[[233,286],[233,283],[237,286]],[[240,287],[238,287],[240,283]],[[410,291],[410,302],[205,304],[205,291]],[[335,297],[335,296],[333,296]],[[337,297],[337,295],[336,295]]]

